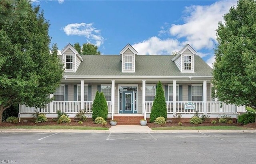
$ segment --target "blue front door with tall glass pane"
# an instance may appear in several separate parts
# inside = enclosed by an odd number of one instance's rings
[[[131,91],[124,91],[124,96],[123,96],[123,113],[133,113],[133,103],[134,103],[134,98],[133,98],[133,92]]]

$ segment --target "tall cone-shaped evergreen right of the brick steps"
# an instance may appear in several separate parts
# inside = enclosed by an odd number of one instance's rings
[[[161,81],[159,81],[157,84],[156,97],[154,99],[152,110],[150,113],[150,123],[153,123],[158,117],[164,117],[165,120],[167,119],[164,89],[162,87]]]

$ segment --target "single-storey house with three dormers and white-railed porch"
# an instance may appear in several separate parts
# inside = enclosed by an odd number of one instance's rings
[[[65,67],[54,101],[44,109],[47,117],[56,117],[61,110],[74,117],[84,109],[92,113],[96,91],[103,92],[108,102],[108,117],[118,124],[139,124],[149,118],[161,81],[166,98],[168,119],[176,113],[190,118],[196,111],[217,118],[236,118],[245,107],[211,101],[212,69],[185,45],[176,55],[139,55],[126,45],[119,55],[80,55],[68,44],[61,51]],[[189,104],[188,104],[189,103]],[[20,118],[30,118],[35,108],[20,105]]]

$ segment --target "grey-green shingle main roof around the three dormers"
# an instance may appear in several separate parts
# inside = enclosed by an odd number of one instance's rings
[[[212,76],[212,69],[195,55],[195,72],[182,73],[172,61],[174,55],[137,55],[135,73],[122,73],[120,55],[81,55],[81,62],[75,73],[64,75],[82,76]]]

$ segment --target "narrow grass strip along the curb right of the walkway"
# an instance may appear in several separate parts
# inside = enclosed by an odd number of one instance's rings
[[[240,126],[166,126],[152,130],[241,130],[248,129]]]

